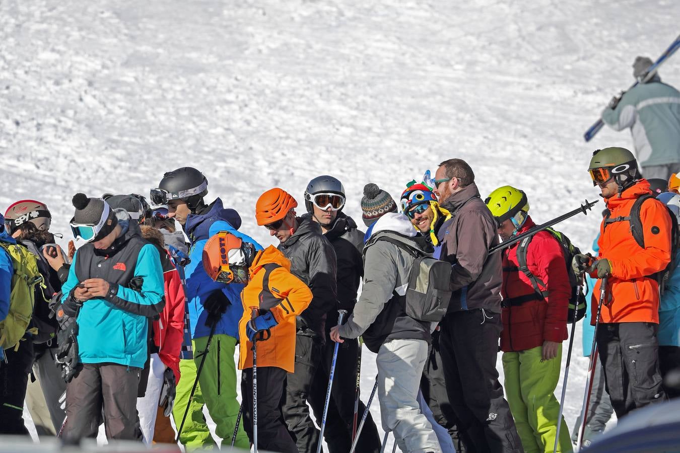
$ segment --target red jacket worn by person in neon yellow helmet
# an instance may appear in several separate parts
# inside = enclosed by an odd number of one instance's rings
[[[528,217],[519,233],[534,226],[535,223]],[[562,342],[567,338],[566,312],[571,287],[562,246],[549,232],[542,231],[533,236],[527,248],[526,262],[530,272],[545,283],[542,289],[549,291],[545,299],[534,291],[529,278],[517,268],[518,246],[515,244],[502,252],[503,332],[500,334],[500,350],[504,352],[527,350],[541,346],[545,340]],[[513,304],[517,297],[530,300]]]

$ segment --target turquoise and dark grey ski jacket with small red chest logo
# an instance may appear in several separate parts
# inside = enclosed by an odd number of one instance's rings
[[[123,232],[112,247],[97,250],[90,242],[75,253],[62,286],[63,308],[69,316],[75,315],[79,303],[73,289],[78,283],[88,278],[107,280],[107,295],[86,300],[78,311],[78,361],[143,368],[148,318],[165,306],[163,268],[158,250],[141,237],[137,223],[129,222],[129,215],[121,209],[116,215]],[[135,277],[141,278],[141,288],[133,289]]]

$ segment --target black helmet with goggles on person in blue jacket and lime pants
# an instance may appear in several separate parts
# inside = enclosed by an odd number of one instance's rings
[[[184,200],[189,209],[194,211],[207,195],[207,186],[208,180],[203,173],[186,166],[165,173],[158,189],[151,189],[150,198],[156,205],[167,204],[169,200]]]

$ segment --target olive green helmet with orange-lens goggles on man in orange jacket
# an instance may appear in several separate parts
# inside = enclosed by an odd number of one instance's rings
[[[594,151],[588,166],[588,173],[594,186],[614,179],[619,185],[619,192],[634,185],[635,181],[641,178],[635,156],[628,149],[621,147]]]

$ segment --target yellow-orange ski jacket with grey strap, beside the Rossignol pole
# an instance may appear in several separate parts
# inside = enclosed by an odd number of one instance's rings
[[[250,282],[241,291],[243,317],[239,321],[239,369],[252,368],[252,342],[245,325],[253,307],[271,312],[277,325],[269,329],[267,340],[257,342],[258,367],[279,367],[293,373],[295,363],[295,316],[311,302],[311,291],[302,280],[290,273],[290,261],[276,247],[255,255],[250,266]],[[265,334],[266,336],[266,334]]]

